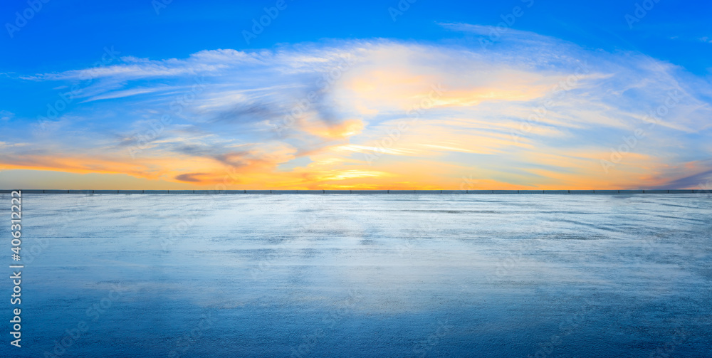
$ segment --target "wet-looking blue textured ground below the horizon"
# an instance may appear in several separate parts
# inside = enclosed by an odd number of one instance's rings
[[[712,357],[705,194],[22,204],[2,357]]]

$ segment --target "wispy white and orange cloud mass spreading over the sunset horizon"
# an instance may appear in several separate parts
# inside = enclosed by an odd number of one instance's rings
[[[49,124],[51,135],[35,130],[29,139],[51,151],[12,147],[0,154],[4,169],[196,185],[231,172],[254,188],[392,189],[451,187],[462,176],[489,188],[691,186],[711,169],[708,79],[641,53],[513,29],[486,49],[330,41],[127,56],[22,78],[56,87],[88,73],[98,80],[85,102]],[[204,90],[191,93],[197,79]],[[671,93],[674,106],[650,126]],[[169,122],[159,122],[164,116]],[[601,160],[637,130],[644,135],[603,170]],[[138,155],[127,153],[139,145]],[[293,161],[301,164],[283,169]]]

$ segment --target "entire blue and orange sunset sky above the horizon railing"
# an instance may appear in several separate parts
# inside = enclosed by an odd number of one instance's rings
[[[8,1],[1,189],[712,189],[707,1]]]

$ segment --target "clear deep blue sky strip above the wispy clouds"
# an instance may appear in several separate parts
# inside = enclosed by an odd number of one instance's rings
[[[26,1],[9,1],[3,22]],[[525,14],[513,28],[572,41],[605,51],[641,51],[682,65],[693,73],[709,73],[712,4],[706,1],[660,1],[629,28],[626,14],[643,1],[424,1],[392,21],[388,9],[399,1],[299,1],[287,8],[258,38],[247,44],[241,31],[264,7],[276,1],[172,1],[156,14],[152,2],[49,1],[28,25],[3,36],[2,59],[9,71],[61,70],[95,61],[104,46],[122,48],[140,58],[181,58],[215,48],[270,48],[279,43],[328,38],[399,38],[417,41],[460,41],[437,23],[496,26],[501,15],[523,6]],[[528,6],[531,4],[529,8]]]

